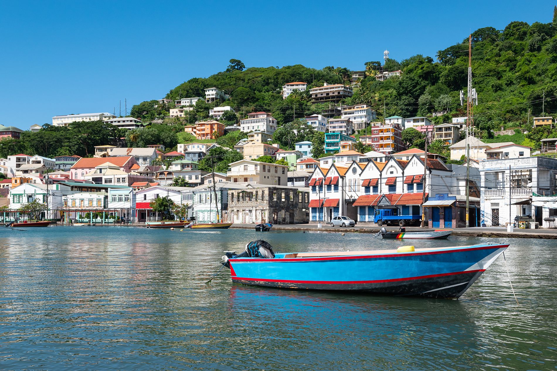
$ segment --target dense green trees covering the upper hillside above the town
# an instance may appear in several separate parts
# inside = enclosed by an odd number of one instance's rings
[[[550,19],[550,12],[547,14]],[[493,27],[472,33],[473,86],[478,92],[474,107],[474,123],[483,139],[493,138],[493,131],[501,127],[521,127],[529,132],[526,137],[538,142],[540,137],[557,136],[548,128],[531,129],[527,118],[551,115],[557,109],[557,19],[551,23],[528,24],[511,22],[502,30]],[[379,62],[367,62],[361,69],[367,77],[354,89],[354,96],[344,105],[368,103],[379,118],[427,116],[435,123],[449,122],[452,117],[466,114],[460,105],[459,91],[466,91],[468,68],[468,37],[462,43],[438,51],[433,57],[416,55],[406,60],[387,60],[387,71],[402,70],[401,77],[376,81]],[[321,113],[329,105],[312,105],[307,93],[292,95],[282,100],[281,87],[287,82],[304,81],[309,88],[327,83],[350,84],[351,73],[344,67],[325,67],[321,70],[301,65],[243,68],[243,63],[232,60],[226,71],[207,78],[192,78],[173,88],[167,98],[204,96],[204,88],[218,87],[231,98],[218,105],[230,105],[237,117],[247,112],[271,112],[279,125],[312,113]],[[201,101],[200,101],[201,102]],[[144,102],[146,103],[146,102]],[[142,103],[142,104],[144,104]],[[198,102],[189,122],[204,120],[215,104]],[[134,106],[135,108],[135,106]],[[167,107],[169,108],[169,107]],[[448,110],[446,115],[432,117],[433,112]],[[133,111],[134,112],[134,111]],[[529,115],[530,112],[530,115]],[[143,112],[144,118],[153,112]],[[160,114],[160,112],[159,112]]]

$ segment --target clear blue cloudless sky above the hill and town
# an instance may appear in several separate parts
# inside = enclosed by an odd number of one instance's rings
[[[0,2],[0,123],[119,113],[192,77],[247,67],[362,70],[383,51],[434,57],[471,31],[551,22],[556,2]]]

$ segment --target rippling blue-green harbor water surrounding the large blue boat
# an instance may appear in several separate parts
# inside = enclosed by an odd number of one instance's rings
[[[0,368],[557,370],[556,243],[510,243],[459,300],[232,285],[251,230],[0,230]],[[389,249],[370,234],[273,231],[276,251]],[[418,245],[418,243],[416,243]],[[514,284],[516,304],[507,277]]]

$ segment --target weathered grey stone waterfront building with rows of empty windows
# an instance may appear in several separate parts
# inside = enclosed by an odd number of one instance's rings
[[[309,222],[309,191],[289,187],[253,187],[228,191],[228,221],[259,224]]]

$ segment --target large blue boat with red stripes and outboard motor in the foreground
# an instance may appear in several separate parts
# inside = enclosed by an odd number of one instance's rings
[[[240,255],[223,256],[233,283],[434,298],[461,296],[509,246],[275,254],[260,244],[254,249],[260,241]]]

